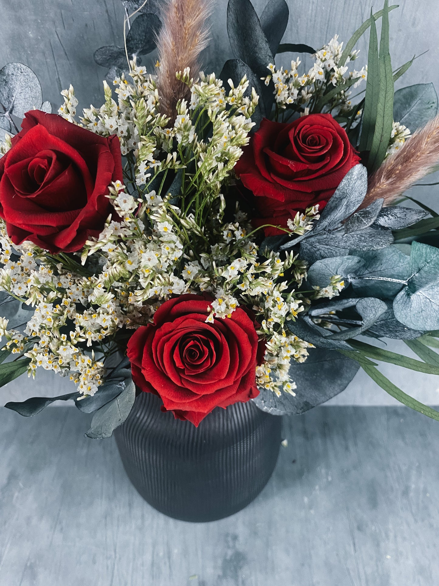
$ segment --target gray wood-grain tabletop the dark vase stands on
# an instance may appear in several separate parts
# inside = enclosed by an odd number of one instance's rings
[[[439,424],[404,407],[284,420],[245,510],[169,519],[76,409],[0,408],[0,586],[435,586]]]

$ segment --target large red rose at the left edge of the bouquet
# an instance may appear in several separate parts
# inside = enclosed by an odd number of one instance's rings
[[[32,110],[0,159],[0,217],[15,244],[79,250],[111,213],[108,185],[122,181],[119,139]]]

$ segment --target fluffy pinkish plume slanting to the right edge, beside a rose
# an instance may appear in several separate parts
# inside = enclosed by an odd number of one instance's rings
[[[379,197],[383,197],[385,206],[391,205],[438,163],[439,115],[414,132],[403,147],[395,155],[389,156],[373,173],[361,207],[368,206]]]

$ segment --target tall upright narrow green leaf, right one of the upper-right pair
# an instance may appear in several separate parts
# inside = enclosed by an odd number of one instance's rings
[[[376,171],[386,156],[393,128],[393,74],[389,53],[389,8],[388,0],[384,2],[381,38],[379,43],[379,95],[376,106],[375,131],[371,152],[369,153],[368,171]]]

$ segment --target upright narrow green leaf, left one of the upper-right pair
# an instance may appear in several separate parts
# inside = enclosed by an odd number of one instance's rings
[[[369,36],[368,79],[366,81],[366,95],[364,98],[363,120],[359,151],[370,151],[373,132],[375,131],[376,107],[379,96],[379,63],[378,63],[378,35],[371,10],[371,35]]]

